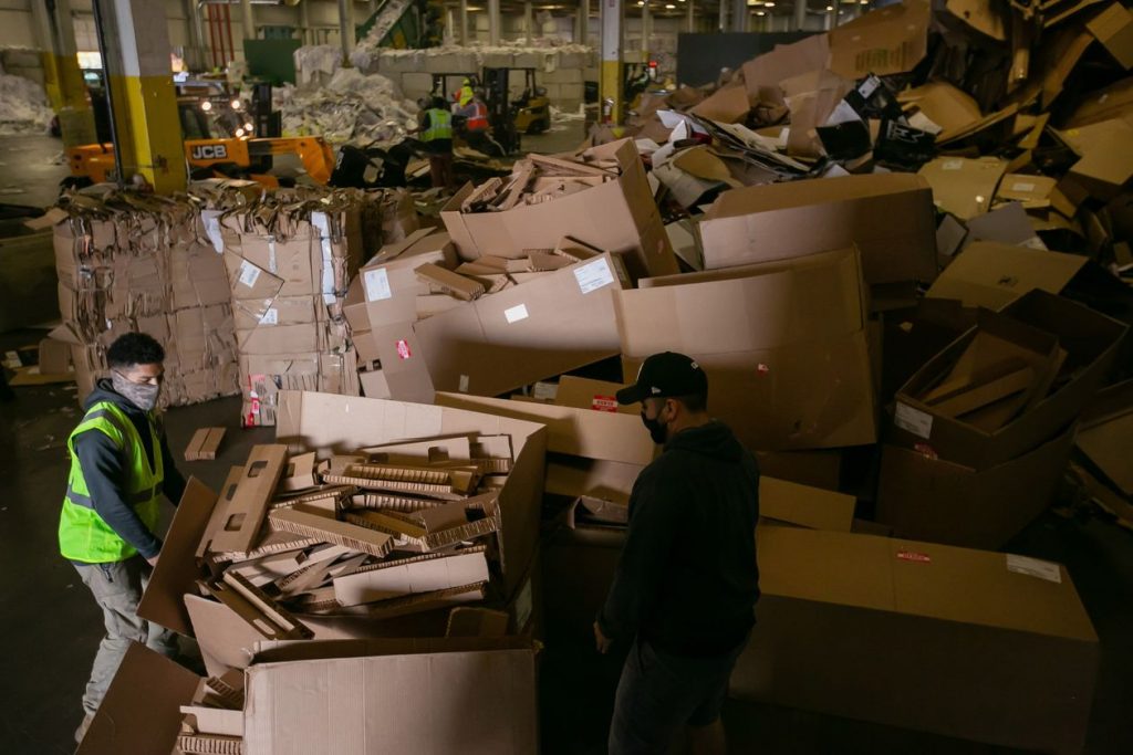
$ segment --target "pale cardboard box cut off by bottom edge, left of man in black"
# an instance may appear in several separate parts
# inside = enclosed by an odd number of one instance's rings
[[[298,660],[269,660],[288,651]],[[529,640],[304,643],[261,655],[247,671],[247,755],[538,750]]]

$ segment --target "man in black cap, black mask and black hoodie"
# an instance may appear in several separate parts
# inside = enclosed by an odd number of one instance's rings
[[[719,711],[759,599],[759,469],[707,413],[708,379],[683,354],[649,357],[617,402],[665,451],[641,471],[614,583],[594,624],[598,652],[633,642],[611,755],[664,755],[689,727],[695,753],[726,749]]]

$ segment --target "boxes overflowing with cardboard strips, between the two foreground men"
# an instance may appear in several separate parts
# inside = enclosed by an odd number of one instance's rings
[[[133,647],[79,752],[536,752],[545,430],[317,393],[280,410],[221,495],[190,480],[138,608],[195,636],[208,678]]]

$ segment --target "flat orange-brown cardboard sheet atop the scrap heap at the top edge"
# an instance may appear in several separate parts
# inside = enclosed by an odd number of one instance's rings
[[[827,32],[830,70],[849,79],[911,71],[928,52],[932,17],[927,0],[905,0]]]

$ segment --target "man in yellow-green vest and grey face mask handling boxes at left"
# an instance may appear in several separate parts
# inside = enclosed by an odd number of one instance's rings
[[[142,333],[107,352],[110,379],[97,381],[86,414],[67,439],[70,477],[59,521],[59,550],[78,569],[102,609],[107,635],[83,695],[82,741],[130,642],[177,654],[177,635],[137,616],[161,540],[154,534],[162,494],[179,501],[177,470],[154,413],[165,352]]]

